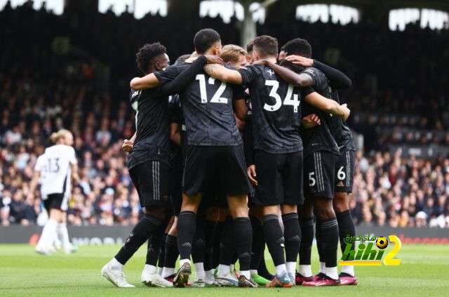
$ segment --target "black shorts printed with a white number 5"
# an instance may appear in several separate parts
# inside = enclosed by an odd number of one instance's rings
[[[304,196],[334,197],[334,171],[338,155],[321,150],[304,158]]]

